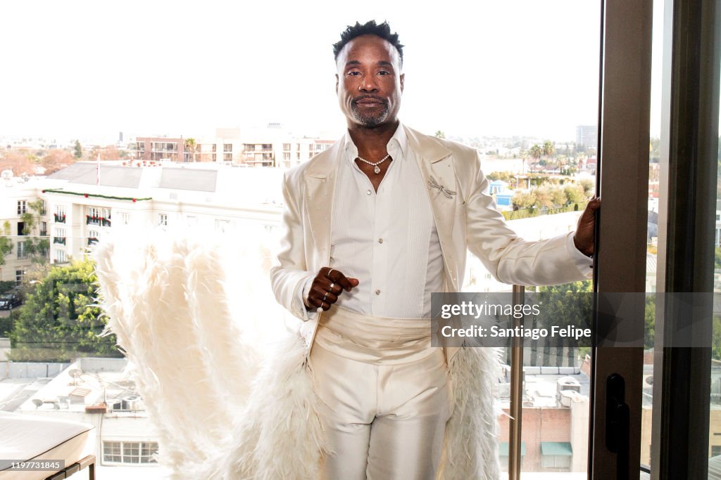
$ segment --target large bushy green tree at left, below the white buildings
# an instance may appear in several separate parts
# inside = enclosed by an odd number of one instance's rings
[[[115,335],[98,336],[105,318],[94,305],[97,277],[91,261],[53,267],[34,287],[10,332],[12,361],[123,356],[115,346]]]

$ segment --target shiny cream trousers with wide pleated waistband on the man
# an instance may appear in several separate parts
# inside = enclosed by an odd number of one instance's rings
[[[451,384],[443,349],[430,347],[430,320],[333,307],[324,314],[310,366],[332,450],[322,478],[435,478]]]

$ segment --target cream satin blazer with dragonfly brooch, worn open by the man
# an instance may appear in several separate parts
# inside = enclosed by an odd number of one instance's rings
[[[463,285],[466,250],[506,284],[565,284],[592,276],[592,261],[572,246],[572,232],[527,242],[510,230],[488,193],[488,181],[474,148],[404,129],[428,186],[446,291],[459,291]],[[270,281],[278,302],[304,320],[301,335],[308,351],[320,316],[306,310],[301,291],[306,279],[330,263],[339,150],[340,142],[336,142],[283,177],[283,232]],[[448,348],[446,357],[450,359],[457,350]]]

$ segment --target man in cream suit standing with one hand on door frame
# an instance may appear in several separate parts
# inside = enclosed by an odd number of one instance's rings
[[[278,302],[304,320],[329,479],[438,471],[458,349],[430,347],[430,293],[459,291],[466,250],[508,284],[588,279],[593,267],[600,200],[575,234],[518,238],[495,209],[476,150],[399,122],[402,52],[385,22],[342,33],[336,91],[348,132],[283,181],[271,279]]]

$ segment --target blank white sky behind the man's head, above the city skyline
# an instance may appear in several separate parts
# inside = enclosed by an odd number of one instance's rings
[[[3,1],[0,137],[202,137],[281,122],[337,135],[331,45],[387,19],[401,119],[446,135],[575,140],[596,124],[598,0]]]

